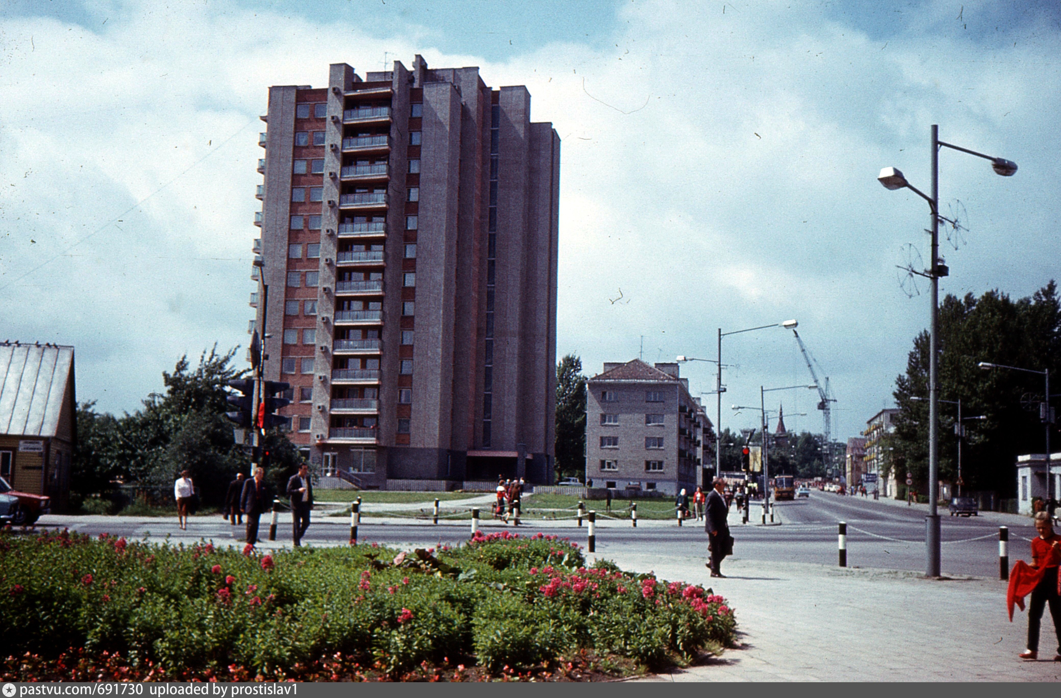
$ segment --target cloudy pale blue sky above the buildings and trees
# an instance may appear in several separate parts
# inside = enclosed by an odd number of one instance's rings
[[[933,123],[1020,164],[941,153],[963,228],[942,292],[1061,276],[1054,2],[6,0],[0,20],[0,339],[74,345],[77,398],[109,412],[185,352],[246,347],[258,115],[330,63],[420,53],[528,87],[562,139],[557,353],[590,374],[797,318],[834,437],[857,435],[928,320],[895,268],[927,263],[927,206],[875,178],[927,190]],[[760,386],[810,380],[782,329],[726,338],[724,363],[731,427]],[[712,364],[682,371],[714,388]],[[813,392],[767,401],[821,430]]]

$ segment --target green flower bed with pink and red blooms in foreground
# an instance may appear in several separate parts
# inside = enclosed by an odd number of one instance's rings
[[[710,589],[508,531],[264,556],[2,535],[0,593],[4,681],[614,675],[719,651],[735,627]]]

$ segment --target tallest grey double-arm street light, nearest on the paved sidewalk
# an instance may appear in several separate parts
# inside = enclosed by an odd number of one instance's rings
[[[903,173],[895,168],[884,168],[877,180],[885,189],[909,189],[921,198],[928,202],[930,217],[928,232],[932,234],[930,266],[924,272],[915,272],[932,280],[932,316],[928,326],[928,516],[925,518],[925,574],[928,577],[939,576],[940,537],[939,537],[939,279],[949,274],[946,265],[939,259],[939,149],[946,146],[991,160],[991,167],[996,174],[1004,177],[1016,172],[1016,163],[1004,158],[992,157],[976,151],[944,143],[939,140],[939,126],[932,125],[932,195],[918,190],[906,181]]]

